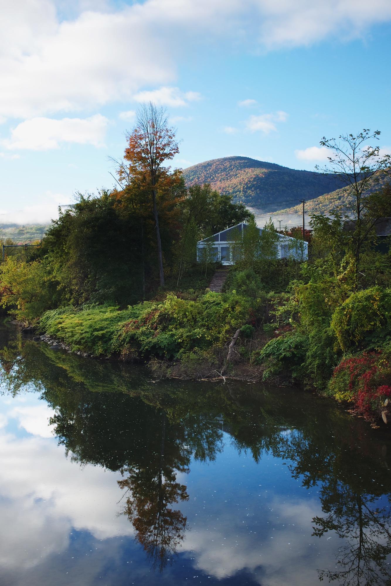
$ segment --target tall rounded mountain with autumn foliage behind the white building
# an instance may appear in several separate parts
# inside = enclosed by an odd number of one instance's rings
[[[186,185],[210,183],[237,202],[265,212],[300,199],[314,199],[342,186],[334,175],[297,171],[247,156],[225,156],[183,170]]]

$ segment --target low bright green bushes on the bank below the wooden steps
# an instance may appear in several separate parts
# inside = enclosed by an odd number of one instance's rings
[[[195,301],[171,294],[123,311],[102,305],[55,309],[43,314],[39,325],[73,350],[96,356],[118,352],[124,358],[194,360],[223,347],[252,318],[250,307],[249,299],[235,294],[209,292]]]

